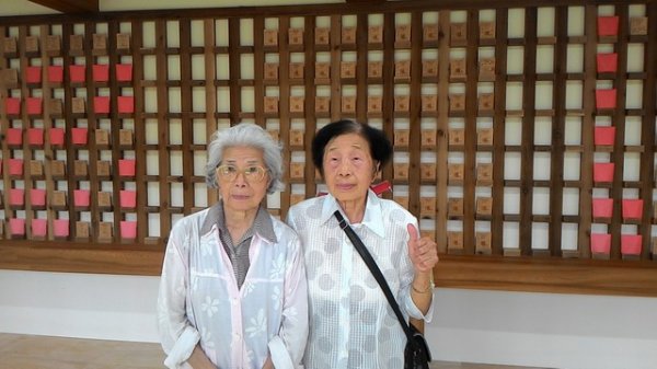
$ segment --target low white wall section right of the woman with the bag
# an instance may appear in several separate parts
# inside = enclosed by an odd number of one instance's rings
[[[657,299],[440,289],[438,359],[549,368],[657,368]]]

